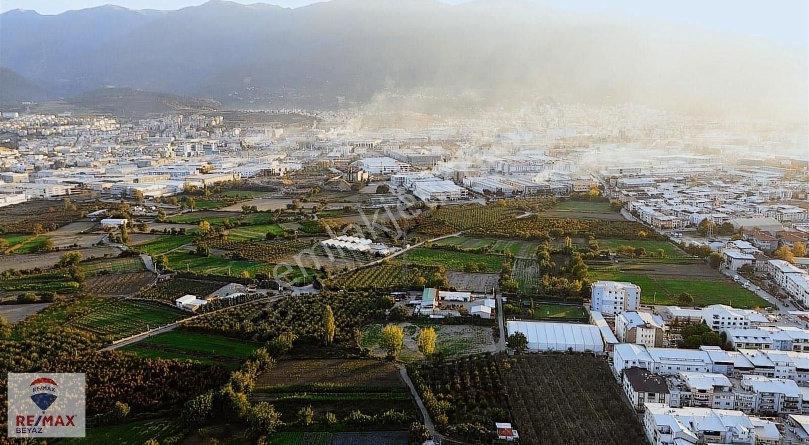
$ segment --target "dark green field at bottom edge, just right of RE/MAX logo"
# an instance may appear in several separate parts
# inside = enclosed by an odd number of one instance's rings
[[[115,426],[87,428],[86,438],[61,439],[66,445],[143,445],[149,439],[163,439],[180,434],[184,426],[179,420],[145,420]]]

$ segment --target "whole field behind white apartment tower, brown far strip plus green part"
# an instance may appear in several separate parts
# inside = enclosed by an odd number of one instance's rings
[[[769,306],[764,299],[722,277],[707,265],[591,267],[590,278],[594,281],[633,282],[641,286],[643,304],[678,304],[677,296],[688,292],[693,295],[696,306],[728,304],[744,309]]]

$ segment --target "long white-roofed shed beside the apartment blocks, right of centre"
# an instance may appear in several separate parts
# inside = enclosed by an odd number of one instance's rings
[[[529,350],[604,352],[601,331],[592,324],[509,321],[506,331],[509,335],[518,332],[525,334]]]

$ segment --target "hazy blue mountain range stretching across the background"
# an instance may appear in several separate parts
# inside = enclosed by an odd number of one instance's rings
[[[807,112],[807,57],[795,49],[515,0],[15,10],[0,15],[0,41],[0,66],[56,96],[114,86],[244,108],[391,97],[530,104],[550,96],[690,112]]]

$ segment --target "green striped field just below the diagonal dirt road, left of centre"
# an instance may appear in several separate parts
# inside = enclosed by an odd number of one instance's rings
[[[255,341],[175,329],[127,345],[121,350],[133,352],[139,357],[187,359],[236,369],[260,347],[261,343]]]

